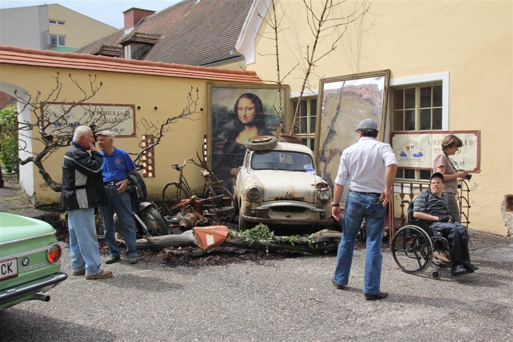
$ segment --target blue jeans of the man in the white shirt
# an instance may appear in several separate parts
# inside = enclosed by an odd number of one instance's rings
[[[337,266],[333,280],[336,284],[346,286],[349,281],[354,243],[358,231],[365,218],[367,233],[367,247],[365,253],[365,275],[363,293],[380,293],[381,240],[383,237],[383,224],[385,222],[386,208],[379,202],[378,195],[361,195],[349,192],[344,213],[344,226],[337,253]]]

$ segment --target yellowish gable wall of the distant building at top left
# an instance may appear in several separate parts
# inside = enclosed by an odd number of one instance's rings
[[[66,22],[64,26],[48,24],[48,30],[50,34],[65,35],[66,46],[75,49],[116,31],[112,26],[56,4],[48,5],[48,18]]]

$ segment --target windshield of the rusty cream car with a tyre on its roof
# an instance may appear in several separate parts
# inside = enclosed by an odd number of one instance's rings
[[[253,170],[289,170],[314,173],[309,154],[292,151],[257,151],[251,157]]]

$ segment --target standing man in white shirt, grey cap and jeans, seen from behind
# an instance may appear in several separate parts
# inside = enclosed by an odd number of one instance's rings
[[[392,183],[396,177],[397,159],[389,144],[375,140],[378,136],[376,120],[362,120],[356,131],[359,141],[342,152],[333,190],[331,213],[339,221],[340,197],[350,180],[337,265],[331,281],[340,290],[347,285],[354,243],[365,218],[367,247],[363,293],[367,300],[383,299],[388,293],[380,291],[383,259],[381,239],[386,205],[390,202]]]

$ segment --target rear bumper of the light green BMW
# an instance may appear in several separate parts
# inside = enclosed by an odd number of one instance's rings
[[[46,292],[57,284],[66,280],[68,275],[64,272],[57,272],[42,278],[29,281],[28,283],[16,285],[10,289],[0,292],[0,310],[30,300],[38,292]],[[5,307],[4,307],[5,306]]]

